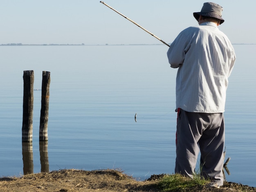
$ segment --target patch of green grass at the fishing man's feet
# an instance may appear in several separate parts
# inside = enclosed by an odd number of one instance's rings
[[[200,175],[198,174],[195,174],[193,179],[180,174],[171,174],[165,175],[162,179],[160,179],[157,186],[163,192],[181,192],[202,188],[209,182],[210,181],[206,179],[201,179]]]

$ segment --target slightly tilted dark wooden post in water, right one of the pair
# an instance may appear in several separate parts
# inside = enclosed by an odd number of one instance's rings
[[[51,81],[50,72],[43,71],[39,141],[48,141],[47,127],[48,127],[48,114],[49,114],[50,81]]]

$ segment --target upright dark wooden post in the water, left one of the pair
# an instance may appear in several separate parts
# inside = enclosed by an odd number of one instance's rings
[[[33,134],[33,86],[34,71],[23,73],[23,120],[22,120],[22,142],[32,142]]]

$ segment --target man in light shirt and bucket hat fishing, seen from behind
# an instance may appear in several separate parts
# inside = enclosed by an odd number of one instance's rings
[[[199,26],[184,29],[168,49],[168,61],[179,68],[176,77],[175,173],[193,178],[199,152],[201,175],[223,185],[223,150],[228,77],[236,55],[218,29],[222,7],[212,2],[193,13]]]

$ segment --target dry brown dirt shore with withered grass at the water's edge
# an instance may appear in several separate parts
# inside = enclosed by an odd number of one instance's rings
[[[22,177],[0,178],[1,192],[159,192],[157,176],[148,181],[136,181],[118,170],[58,170],[29,174]],[[219,189],[188,189],[198,192],[253,192],[256,188],[237,183],[225,183]]]

